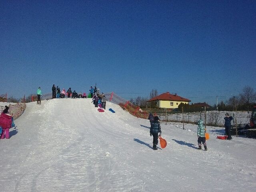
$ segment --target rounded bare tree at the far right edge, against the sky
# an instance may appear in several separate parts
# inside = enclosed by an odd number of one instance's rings
[[[256,101],[256,92],[250,86],[243,88],[242,93],[239,95],[242,104],[246,104],[249,112],[249,106]]]

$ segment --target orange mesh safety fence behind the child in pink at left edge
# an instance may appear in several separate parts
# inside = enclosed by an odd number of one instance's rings
[[[9,107],[9,113],[12,115],[14,119],[17,119],[19,116],[21,116],[26,109],[26,100],[25,96],[21,99],[21,102],[18,102],[16,104],[8,104],[6,105]],[[0,112],[4,110],[5,106],[0,106]]]

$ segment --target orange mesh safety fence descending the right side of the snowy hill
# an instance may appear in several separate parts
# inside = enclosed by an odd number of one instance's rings
[[[140,108],[140,106],[136,106],[136,105],[130,103],[130,101],[119,97],[118,95],[116,95],[113,92],[106,93],[104,95],[106,96],[108,101],[121,106],[123,109],[127,110],[133,116],[136,116],[138,118],[148,119],[149,113],[146,111],[143,111]]]

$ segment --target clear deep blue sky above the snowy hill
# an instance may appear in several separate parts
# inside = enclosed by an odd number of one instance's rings
[[[256,1],[0,2],[0,94],[90,86],[194,102],[256,90]]]

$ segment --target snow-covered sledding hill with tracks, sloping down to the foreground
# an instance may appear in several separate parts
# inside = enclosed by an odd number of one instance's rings
[[[224,129],[207,127],[205,152],[196,150],[196,125],[162,123],[167,147],[154,151],[148,120],[110,102],[100,113],[91,101],[28,103],[0,141],[1,191],[255,191],[255,139],[218,140]]]

